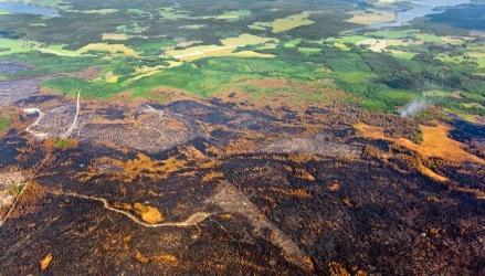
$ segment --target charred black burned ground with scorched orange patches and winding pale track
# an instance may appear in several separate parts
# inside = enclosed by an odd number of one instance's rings
[[[485,273],[483,164],[352,127],[409,136],[397,116],[217,98],[81,103],[77,116],[63,97],[17,105],[28,114],[0,140],[3,182],[23,184],[1,209],[3,275]]]

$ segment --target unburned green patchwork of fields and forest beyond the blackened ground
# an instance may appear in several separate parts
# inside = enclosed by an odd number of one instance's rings
[[[347,21],[356,10],[347,3],[333,12],[326,9],[335,8],[310,2],[288,2],[284,11],[255,1],[41,4],[73,15],[63,22],[1,13],[0,60],[32,65],[3,79],[97,67],[101,75],[95,79],[60,75],[42,85],[63,94],[81,88],[84,96],[103,99],[120,93],[149,99],[154,89],[166,88],[200,97],[231,89],[277,96],[292,89],[256,87],[247,79],[298,81],[315,87],[330,79],[335,89],[357,98],[355,104],[376,112],[396,112],[430,91],[460,91],[461,98],[425,97],[447,110],[483,115],[473,104],[484,96],[485,50],[467,33],[442,34],[417,25],[354,29]],[[68,31],[76,25],[83,28]],[[315,97],[298,93],[295,100],[312,103]]]

